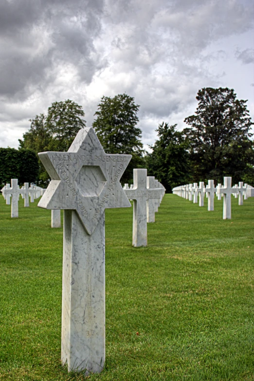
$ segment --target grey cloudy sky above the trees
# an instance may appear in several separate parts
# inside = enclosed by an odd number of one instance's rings
[[[203,87],[229,87],[254,119],[253,0],[0,0],[0,146],[18,147],[54,101],[103,95],[140,105],[143,143],[194,113]]]

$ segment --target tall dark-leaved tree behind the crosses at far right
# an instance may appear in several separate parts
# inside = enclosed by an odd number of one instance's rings
[[[198,91],[195,115],[184,122],[190,144],[195,181],[232,176],[233,183],[254,178],[253,125],[245,100],[238,100],[233,89],[203,88]]]

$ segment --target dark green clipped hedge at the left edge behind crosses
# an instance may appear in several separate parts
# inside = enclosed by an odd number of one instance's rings
[[[0,187],[18,179],[19,184],[36,182],[39,174],[37,155],[30,149],[0,148]]]

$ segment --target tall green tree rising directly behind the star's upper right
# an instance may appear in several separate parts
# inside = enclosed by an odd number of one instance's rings
[[[137,127],[139,105],[127,94],[111,97],[103,96],[95,112],[92,127],[106,153],[130,154],[132,159],[121,179],[126,182],[133,178],[133,168],[144,166],[144,150],[141,129]]]

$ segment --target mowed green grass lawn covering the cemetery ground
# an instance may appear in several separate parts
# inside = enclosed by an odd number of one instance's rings
[[[62,229],[0,197],[0,381],[85,380],[61,367]],[[88,380],[254,380],[254,200],[222,219],[165,195],[148,247],[106,211],[106,364]]]

